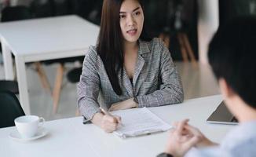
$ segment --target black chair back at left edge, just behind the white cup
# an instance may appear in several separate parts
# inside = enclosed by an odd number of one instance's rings
[[[0,92],[0,128],[15,126],[14,119],[25,115],[14,93]]]

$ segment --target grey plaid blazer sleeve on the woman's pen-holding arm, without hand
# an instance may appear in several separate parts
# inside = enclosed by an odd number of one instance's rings
[[[100,112],[97,97],[100,89],[100,79],[97,71],[97,53],[90,47],[82,64],[82,75],[77,86],[78,107],[81,115],[92,119],[93,115]]]

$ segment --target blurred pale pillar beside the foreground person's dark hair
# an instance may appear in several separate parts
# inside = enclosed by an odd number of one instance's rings
[[[207,64],[208,44],[219,25],[218,0],[198,0],[198,5],[199,61]]]

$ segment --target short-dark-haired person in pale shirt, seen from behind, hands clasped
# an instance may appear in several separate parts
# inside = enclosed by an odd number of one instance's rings
[[[219,27],[208,58],[229,111],[240,122],[214,144],[188,119],[175,122],[158,156],[256,156],[256,19],[240,17]],[[196,148],[196,149],[192,149]]]

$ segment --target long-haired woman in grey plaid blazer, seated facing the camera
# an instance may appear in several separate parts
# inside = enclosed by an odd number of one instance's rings
[[[78,85],[80,113],[106,132],[117,129],[115,111],[183,101],[181,80],[168,49],[146,38],[141,0],[104,0],[97,46],[90,46]]]

